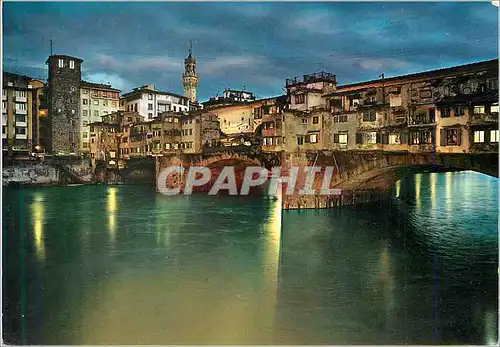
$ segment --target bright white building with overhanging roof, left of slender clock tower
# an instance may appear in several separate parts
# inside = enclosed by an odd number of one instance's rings
[[[182,95],[159,91],[154,85],[147,84],[123,94],[120,99],[120,109],[138,112],[145,121],[152,121],[163,112],[188,112],[190,99]]]

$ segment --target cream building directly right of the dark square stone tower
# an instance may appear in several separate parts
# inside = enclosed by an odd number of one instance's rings
[[[80,83],[80,152],[90,151],[89,124],[100,122],[102,116],[116,112],[120,105],[120,90],[110,85]]]

